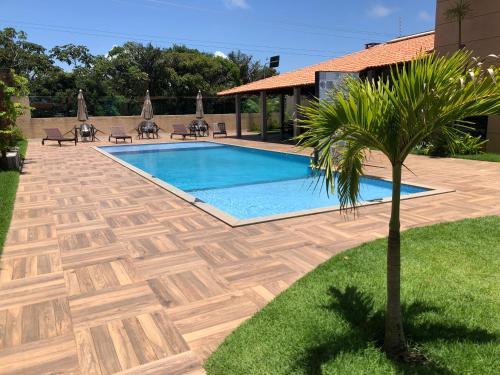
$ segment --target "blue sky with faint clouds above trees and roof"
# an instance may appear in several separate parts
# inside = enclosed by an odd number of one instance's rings
[[[0,0],[0,28],[24,30],[50,49],[83,44],[106,54],[127,40],[184,44],[286,72],[400,35],[434,28],[435,0]]]

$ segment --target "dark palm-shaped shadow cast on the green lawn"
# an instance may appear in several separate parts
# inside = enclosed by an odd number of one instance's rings
[[[373,298],[353,286],[347,287],[345,291],[332,287],[329,289],[329,294],[331,302],[324,307],[340,315],[349,325],[349,330],[344,334],[326,338],[318,333],[317,340],[314,340],[315,345],[306,348],[295,363],[296,369],[301,369],[309,375],[322,374],[322,365],[343,353],[356,353],[369,347],[382,347],[385,313],[375,309]],[[487,343],[497,339],[496,335],[484,329],[469,328],[452,322],[425,323],[425,326],[416,323],[422,314],[442,312],[441,308],[427,302],[417,301],[403,305],[402,310],[406,335],[412,346],[436,340]],[[423,355],[411,363],[390,360],[398,372],[403,374],[453,373]]]

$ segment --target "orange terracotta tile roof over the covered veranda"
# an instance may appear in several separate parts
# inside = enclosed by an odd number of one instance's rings
[[[218,95],[234,95],[314,85],[316,71],[359,72],[366,68],[409,61],[422,51],[430,52],[433,49],[434,31],[410,35],[319,64],[221,91]]]

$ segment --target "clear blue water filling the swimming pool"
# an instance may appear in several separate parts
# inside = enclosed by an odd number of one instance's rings
[[[316,185],[305,156],[209,142],[101,149],[239,220],[339,204]],[[391,189],[390,182],[363,177],[361,198],[387,198]],[[426,190],[403,185],[401,194]]]

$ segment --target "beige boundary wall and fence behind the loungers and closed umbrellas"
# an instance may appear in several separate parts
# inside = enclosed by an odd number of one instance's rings
[[[154,121],[162,132],[169,133],[173,124],[187,124],[194,119],[195,97],[153,97]],[[31,96],[20,98],[31,111],[18,119],[17,123],[27,138],[40,138],[44,128],[57,127],[66,132],[78,125],[76,121],[76,97]],[[143,99],[123,97],[101,97],[93,100],[86,97],[89,123],[108,134],[112,126],[120,125],[133,133],[142,120],[140,117]],[[205,97],[203,99],[205,120],[210,124],[225,122],[230,133],[236,132],[235,103],[233,98]],[[276,103],[268,100],[268,128],[279,128]],[[241,123],[243,131],[260,131],[261,118],[259,97],[248,96],[242,100]]]

